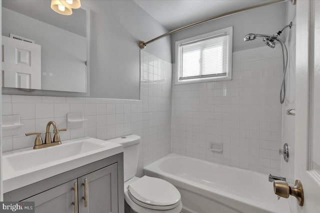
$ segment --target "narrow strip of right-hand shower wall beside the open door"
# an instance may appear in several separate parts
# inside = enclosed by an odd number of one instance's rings
[[[286,22],[292,21],[292,27],[286,31],[286,45],[288,48],[288,69],[286,75],[286,97],[282,104],[282,143],[289,146],[289,159],[285,162],[281,157],[281,176],[287,179],[289,185],[294,185],[294,144],[295,144],[295,116],[286,115],[287,109],[295,109],[295,31],[296,31],[296,6],[290,2],[286,5]],[[296,199],[289,198],[289,207],[292,212],[296,206]]]

